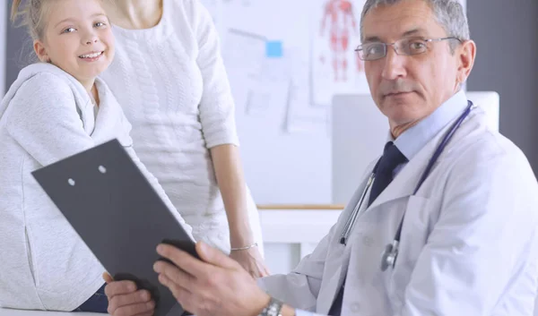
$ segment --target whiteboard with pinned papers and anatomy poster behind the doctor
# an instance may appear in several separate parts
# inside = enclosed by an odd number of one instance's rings
[[[353,52],[364,0],[349,0],[352,17],[338,20],[349,31],[344,51],[331,44],[330,0],[201,1],[220,33],[242,163],[256,203],[330,203],[331,100],[369,95]]]

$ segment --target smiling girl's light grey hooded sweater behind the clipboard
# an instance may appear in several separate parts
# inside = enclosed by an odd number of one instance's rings
[[[100,262],[32,177],[39,167],[117,139],[185,223],[136,158],[117,100],[104,82],[96,86],[95,117],[79,81],[52,64],[32,64],[0,104],[0,306],[72,311],[104,283]]]

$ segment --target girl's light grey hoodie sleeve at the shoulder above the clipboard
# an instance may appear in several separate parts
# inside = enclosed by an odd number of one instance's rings
[[[24,82],[5,115],[7,131],[41,166],[94,146],[71,88],[54,74],[39,73]]]

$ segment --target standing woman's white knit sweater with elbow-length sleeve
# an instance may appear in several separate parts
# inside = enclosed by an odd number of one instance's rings
[[[239,141],[211,15],[198,0],[164,0],[155,27],[113,30],[115,60],[101,77],[133,124],[134,150],[195,238],[228,252],[228,222],[209,149]],[[247,195],[261,245],[256,205]]]

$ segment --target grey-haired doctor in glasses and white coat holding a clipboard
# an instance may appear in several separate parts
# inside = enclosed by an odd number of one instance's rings
[[[538,184],[460,89],[476,52],[462,6],[368,0],[360,30],[390,132],[329,234],[290,274],[258,285],[204,243],[204,262],[161,245],[180,268],[157,262],[161,282],[198,316],[532,315]],[[133,284],[106,293],[112,315],[152,312]]]

